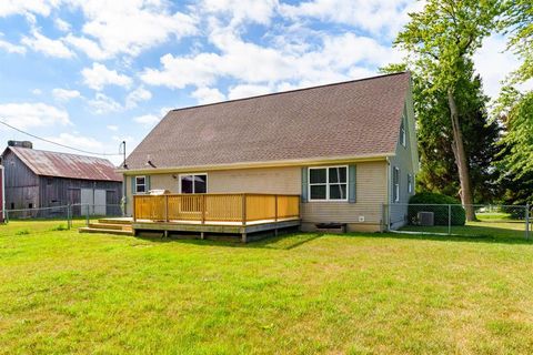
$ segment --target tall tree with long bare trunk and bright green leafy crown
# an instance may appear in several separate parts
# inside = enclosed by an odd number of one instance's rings
[[[418,68],[424,69],[430,90],[439,91],[446,100],[451,150],[469,221],[475,220],[474,201],[457,102],[461,95],[471,94],[462,91],[461,82],[470,79],[472,57],[495,28],[499,13],[497,0],[428,0],[423,11],[410,14],[410,22],[395,42],[413,55]]]

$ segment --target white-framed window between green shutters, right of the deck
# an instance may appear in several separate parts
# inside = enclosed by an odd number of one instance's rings
[[[310,201],[348,201],[348,166],[309,168]]]

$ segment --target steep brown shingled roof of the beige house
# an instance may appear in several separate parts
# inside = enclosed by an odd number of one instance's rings
[[[398,73],[173,110],[128,168],[393,154],[409,81]]]

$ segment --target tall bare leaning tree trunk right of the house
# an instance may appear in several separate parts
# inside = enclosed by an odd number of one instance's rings
[[[463,133],[459,124],[457,106],[451,89],[447,90],[447,104],[450,105],[450,119],[452,121],[453,142],[452,151],[455,156],[455,164],[459,171],[459,182],[461,185],[461,202],[466,211],[466,221],[476,221],[473,194],[470,181],[470,168],[466,152],[464,151]]]

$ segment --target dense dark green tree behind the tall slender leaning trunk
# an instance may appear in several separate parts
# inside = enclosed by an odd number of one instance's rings
[[[450,196],[460,194],[459,173],[450,144],[452,128],[445,93],[434,90],[428,75],[421,77],[423,69],[410,63],[391,64],[382,72],[410,70],[413,80],[413,102],[416,116],[416,135],[421,170],[416,176],[416,189],[443,193]],[[469,77],[469,75],[465,75]],[[489,122],[486,104],[489,98],[483,94],[481,79],[470,73],[469,80],[459,83],[462,94],[457,106],[461,131],[464,132],[464,145],[475,203],[492,202],[499,193],[497,174],[492,160],[497,152],[496,141],[500,126]],[[469,93],[469,94],[466,94]]]

